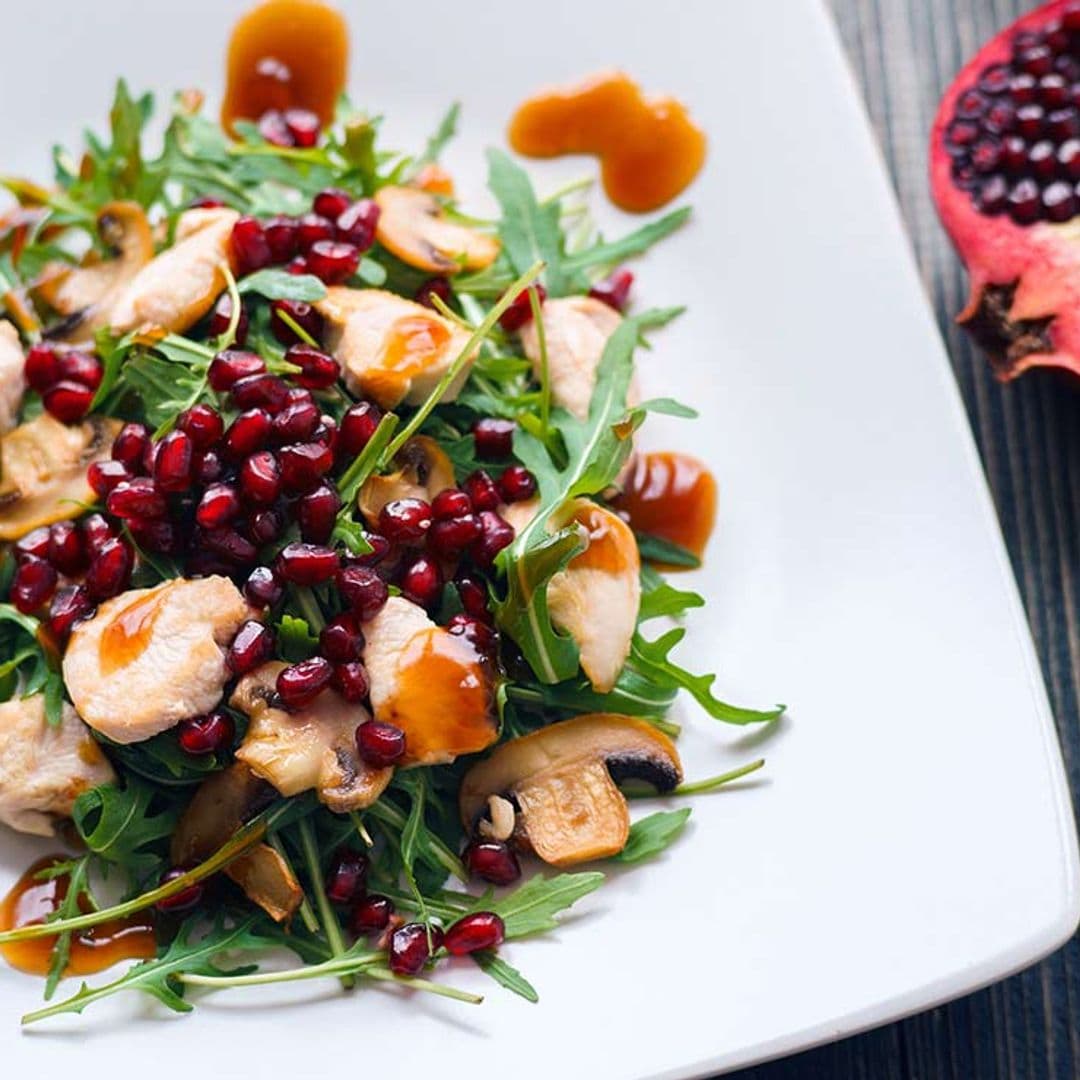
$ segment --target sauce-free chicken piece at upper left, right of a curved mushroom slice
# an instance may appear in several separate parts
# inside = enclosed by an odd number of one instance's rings
[[[181,214],[176,243],[139,270],[117,297],[109,325],[117,330],[181,333],[202,319],[226,287],[222,267],[232,267],[229,238],[239,217],[225,207]]]

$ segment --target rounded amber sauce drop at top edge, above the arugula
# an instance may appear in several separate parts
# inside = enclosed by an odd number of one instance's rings
[[[349,31],[341,13],[319,0],[266,0],[229,39],[221,124],[258,120],[270,109],[310,109],[334,119],[345,90]]]

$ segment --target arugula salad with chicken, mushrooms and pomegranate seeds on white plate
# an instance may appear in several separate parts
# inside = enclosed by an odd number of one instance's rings
[[[715,495],[635,453],[693,413],[637,387],[680,309],[624,262],[688,211],[605,238],[492,149],[472,217],[457,107],[402,153],[343,97],[226,129],[191,92],[151,151],[152,105],[121,82],[51,185],[3,180],[0,821],[69,849],[0,904],[24,1023],[308,978],[478,1001],[462,962],[535,1001],[505,943],[691,810],[627,798],[762,764],[688,782],[679,691],[782,712],[673,657],[704,600],[660,567]]]

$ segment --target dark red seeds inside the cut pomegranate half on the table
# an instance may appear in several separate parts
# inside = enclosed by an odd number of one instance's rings
[[[1080,212],[1080,2],[1016,33],[1009,62],[959,95],[945,148],[984,214],[1032,225]]]

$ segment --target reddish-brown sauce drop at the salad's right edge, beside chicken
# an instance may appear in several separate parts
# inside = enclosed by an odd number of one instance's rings
[[[612,505],[626,514],[635,532],[667,540],[701,558],[716,522],[716,480],[688,454],[639,454]]]

